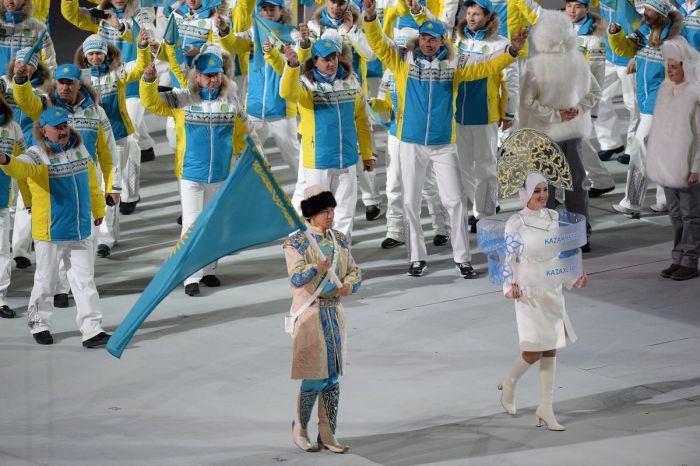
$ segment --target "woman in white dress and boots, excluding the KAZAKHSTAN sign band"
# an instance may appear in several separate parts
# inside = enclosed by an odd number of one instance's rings
[[[549,430],[564,430],[552,410],[556,353],[566,346],[567,336],[576,341],[576,334],[564,306],[562,284],[553,280],[538,283],[536,287],[523,285],[531,282],[527,279],[532,279],[536,270],[558,260],[559,254],[547,247],[545,239],[556,234],[559,214],[546,208],[547,180],[540,173],[528,174],[519,196],[523,209],[506,222],[505,237],[517,239],[522,247],[506,257],[513,276],[510,283],[504,284],[503,292],[507,298],[515,300],[522,353],[514,361],[510,374],[498,385],[502,390],[501,404],[506,412],[515,415],[515,385],[532,364],[540,361],[540,405],[535,412],[537,426],[544,423]],[[582,288],[587,283],[588,278],[582,273],[567,286]]]

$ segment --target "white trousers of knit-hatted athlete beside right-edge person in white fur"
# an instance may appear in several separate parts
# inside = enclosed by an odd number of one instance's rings
[[[631,151],[630,164],[627,168],[627,183],[625,184],[625,197],[620,205],[628,209],[640,210],[646,196],[646,162],[647,162],[647,138],[651,132],[654,116],[642,114],[639,118],[639,126],[634,133],[634,150]],[[663,188],[656,188],[656,203],[666,204],[666,195]]]

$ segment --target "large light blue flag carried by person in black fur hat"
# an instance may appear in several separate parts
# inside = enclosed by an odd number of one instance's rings
[[[124,348],[155,307],[185,278],[215,260],[306,226],[248,138],[248,148],[214,199],[180,238],[170,257],[109,339],[107,351]]]

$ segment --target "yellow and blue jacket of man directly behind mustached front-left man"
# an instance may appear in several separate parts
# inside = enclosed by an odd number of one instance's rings
[[[97,94],[92,88],[83,84],[78,103],[75,105],[70,105],[58,97],[55,83],[48,89],[48,102],[34,93],[29,81],[17,84],[17,81],[13,80],[12,94],[19,108],[29,115],[32,121],[39,119],[45,104],[50,107],[62,107],[68,113],[68,125],[80,134],[92,161],[99,164],[106,192],[121,191],[121,179],[115,178],[114,158],[117,154],[117,144],[112,134],[112,125],[104,109],[96,103]]]

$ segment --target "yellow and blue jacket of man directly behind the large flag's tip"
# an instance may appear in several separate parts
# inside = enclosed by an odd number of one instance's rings
[[[189,89],[160,94],[158,80],[139,83],[143,105],[175,119],[175,176],[199,183],[224,181],[234,155],[246,147],[246,134],[252,133],[228,78],[211,94],[196,87],[194,80]]]

